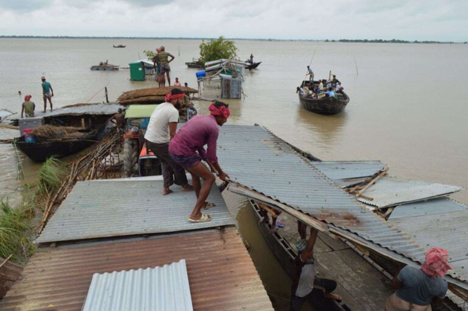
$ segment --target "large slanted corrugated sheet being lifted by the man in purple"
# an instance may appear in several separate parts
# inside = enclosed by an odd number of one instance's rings
[[[264,128],[221,127],[218,157],[232,181],[413,260],[424,260],[417,245]]]

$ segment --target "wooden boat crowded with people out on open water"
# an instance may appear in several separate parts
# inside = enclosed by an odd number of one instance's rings
[[[322,115],[340,113],[350,101],[335,75],[329,80],[304,80],[296,93],[303,108]]]

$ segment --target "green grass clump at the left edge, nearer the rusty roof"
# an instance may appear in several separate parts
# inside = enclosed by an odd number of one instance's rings
[[[0,257],[7,258],[11,254],[13,261],[26,263],[35,250],[30,238],[33,217],[32,203],[23,202],[13,208],[8,199],[0,198]]]

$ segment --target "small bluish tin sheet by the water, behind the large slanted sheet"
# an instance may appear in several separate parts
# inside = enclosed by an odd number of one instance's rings
[[[365,177],[373,176],[383,170],[385,164],[380,161],[321,161],[314,166],[342,187],[361,182]]]

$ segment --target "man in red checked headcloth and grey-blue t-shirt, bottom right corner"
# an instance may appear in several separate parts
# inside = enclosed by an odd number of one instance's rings
[[[421,268],[406,266],[395,275],[392,287],[396,292],[387,299],[385,311],[431,311],[431,302],[441,304],[445,297],[447,281],[443,276],[451,268],[447,251],[431,248]]]

